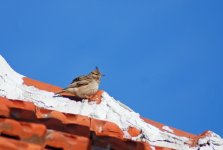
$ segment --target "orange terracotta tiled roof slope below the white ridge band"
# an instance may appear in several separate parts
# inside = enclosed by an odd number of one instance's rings
[[[0,118],[1,135],[21,141],[20,143],[25,145],[24,149],[30,147],[40,149],[39,146],[34,145],[39,144],[44,148],[64,150],[69,150],[69,147],[83,150],[89,147],[150,150],[147,143],[123,139],[122,130],[116,124],[108,121],[42,109],[30,102],[14,101],[3,97],[0,97],[0,103],[0,114],[6,117]],[[13,149],[18,141],[11,143]],[[10,144],[6,146],[9,148]]]

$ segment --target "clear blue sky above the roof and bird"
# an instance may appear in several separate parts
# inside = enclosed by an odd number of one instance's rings
[[[97,65],[142,116],[223,136],[221,0],[1,0],[0,53],[61,87]]]

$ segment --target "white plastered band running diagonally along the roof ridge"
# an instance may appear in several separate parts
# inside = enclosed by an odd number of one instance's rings
[[[108,93],[103,92],[100,104],[88,100],[73,101],[69,98],[55,96],[53,92],[40,90],[34,86],[23,83],[23,75],[16,73],[0,55],[0,96],[8,99],[33,102],[36,106],[70,114],[80,114],[96,119],[110,121],[117,124],[124,133],[125,138],[146,141],[153,146],[162,146],[173,149],[192,149],[188,137],[177,136],[168,126],[163,129],[145,122],[138,113],[115,100]],[[131,137],[129,127],[135,127],[141,134]],[[223,149],[223,140],[213,134],[212,146]],[[200,139],[198,145],[207,142]],[[203,144],[204,145],[204,144]]]

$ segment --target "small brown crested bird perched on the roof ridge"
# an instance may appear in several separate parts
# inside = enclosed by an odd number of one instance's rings
[[[104,75],[100,72],[99,68],[95,67],[89,74],[74,78],[66,88],[55,94],[66,92],[83,99],[91,98],[98,91],[102,76]]]

